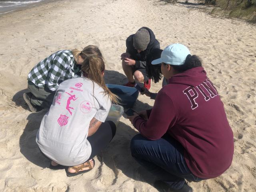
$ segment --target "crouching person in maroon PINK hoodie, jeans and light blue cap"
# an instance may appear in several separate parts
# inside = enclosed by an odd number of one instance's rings
[[[132,156],[156,176],[160,190],[192,192],[188,181],[215,178],[231,165],[234,142],[224,106],[199,58],[182,44],[167,46],[161,58],[168,84],[152,110],[128,117],[140,132]]]

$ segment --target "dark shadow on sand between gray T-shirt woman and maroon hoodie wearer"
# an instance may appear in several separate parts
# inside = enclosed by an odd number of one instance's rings
[[[155,180],[155,177],[131,156],[130,141],[137,134],[139,134],[138,131],[123,122],[119,122],[116,128],[116,136],[108,147],[97,156],[100,162],[106,164],[114,172],[115,178],[112,185],[116,183],[120,171],[128,178],[147,182],[151,185]]]

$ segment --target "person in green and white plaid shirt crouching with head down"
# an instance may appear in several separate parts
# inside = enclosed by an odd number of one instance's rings
[[[89,45],[82,51],[61,50],[40,61],[28,74],[28,90],[23,98],[30,111],[50,108],[59,84],[81,76],[81,64],[88,56],[102,56],[98,47]]]

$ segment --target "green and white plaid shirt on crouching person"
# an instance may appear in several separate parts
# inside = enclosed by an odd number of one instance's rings
[[[74,78],[75,64],[71,50],[58,51],[34,66],[28,74],[28,80],[38,87],[46,86],[56,91],[62,81]]]

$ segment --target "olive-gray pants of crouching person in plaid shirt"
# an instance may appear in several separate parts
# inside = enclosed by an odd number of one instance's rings
[[[48,88],[38,87],[31,81],[28,81],[28,89],[33,94],[31,103],[34,106],[50,108],[55,92],[52,92]]]

